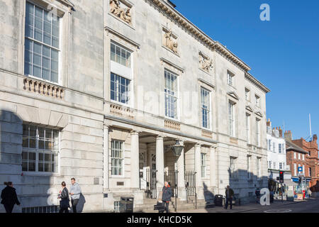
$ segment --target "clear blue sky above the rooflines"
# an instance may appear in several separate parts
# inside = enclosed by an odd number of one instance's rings
[[[319,135],[319,1],[172,0],[177,10],[240,57],[267,94],[272,126],[290,130],[293,139]],[[261,21],[269,4],[270,21]]]

